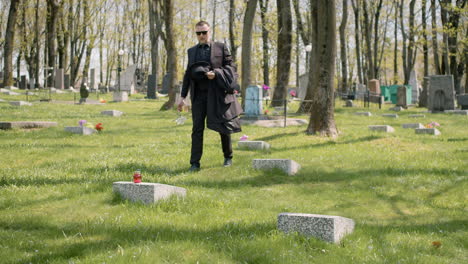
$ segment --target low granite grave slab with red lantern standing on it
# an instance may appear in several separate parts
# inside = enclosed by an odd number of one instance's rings
[[[185,197],[187,194],[185,188],[160,183],[119,181],[114,182],[112,187],[114,192],[121,195],[122,198],[144,204],[155,203],[159,200],[167,199],[172,195]]]

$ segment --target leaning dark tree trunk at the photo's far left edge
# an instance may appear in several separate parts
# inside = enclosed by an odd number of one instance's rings
[[[5,46],[3,51],[3,86],[13,85],[13,48],[15,45],[16,17],[20,0],[11,0],[8,12],[8,22],[5,30]]]

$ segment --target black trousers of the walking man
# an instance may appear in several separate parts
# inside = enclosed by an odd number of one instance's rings
[[[205,130],[205,120],[207,114],[207,93],[197,92],[192,101],[192,153],[190,164],[200,164],[203,154],[203,131]],[[232,159],[231,134],[219,133],[221,136],[221,146],[224,158]]]

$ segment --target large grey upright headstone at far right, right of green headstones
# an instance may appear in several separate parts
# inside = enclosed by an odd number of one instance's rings
[[[432,112],[455,109],[455,90],[452,75],[431,75],[427,108]]]

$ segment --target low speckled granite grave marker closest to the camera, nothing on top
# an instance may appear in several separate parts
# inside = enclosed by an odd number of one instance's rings
[[[339,243],[354,230],[352,219],[317,214],[281,213],[278,215],[278,229],[285,232],[298,232],[327,242]]]

